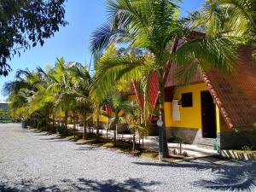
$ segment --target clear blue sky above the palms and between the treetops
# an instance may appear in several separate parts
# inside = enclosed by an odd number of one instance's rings
[[[199,9],[204,0],[183,0],[180,4],[182,15]],[[7,78],[0,76],[0,89],[6,81],[15,79],[17,69],[31,70],[45,65],[54,65],[56,57],[64,56],[66,61],[90,62],[90,34],[100,26],[107,17],[105,0],[68,0],[66,3],[66,20],[69,25],[47,39],[44,47],[37,46],[21,53],[9,62],[13,71]],[[0,100],[4,96],[0,92]]]

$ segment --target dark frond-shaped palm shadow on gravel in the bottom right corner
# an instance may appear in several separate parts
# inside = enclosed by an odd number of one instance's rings
[[[142,163],[134,162],[140,166],[160,166],[160,167],[178,167],[184,169],[196,169],[196,171],[210,171],[214,179],[201,179],[195,183],[205,189],[230,190],[230,191],[256,191],[256,162],[230,162],[229,165],[219,165],[201,162],[181,162],[181,163]]]

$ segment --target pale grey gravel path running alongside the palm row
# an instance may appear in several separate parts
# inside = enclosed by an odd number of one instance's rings
[[[0,124],[0,191],[256,191],[255,186],[253,162],[160,164]]]

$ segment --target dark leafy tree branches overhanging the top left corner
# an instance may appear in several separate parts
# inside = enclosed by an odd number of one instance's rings
[[[50,38],[66,26],[64,20],[65,0],[1,0],[0,1],[0,75],[7,76],[7,63],[21,50],[44,45]]]

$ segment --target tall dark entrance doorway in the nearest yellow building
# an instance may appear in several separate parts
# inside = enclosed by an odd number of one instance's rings
[[[202,137],[216,138],[216,110],[209,91],[201,92]]]

